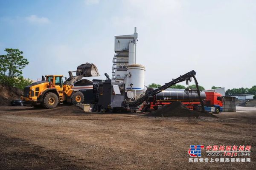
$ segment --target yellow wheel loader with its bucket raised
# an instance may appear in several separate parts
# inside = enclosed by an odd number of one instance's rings
[[[73,76],[76,72],[76,76]],[[76,71],[69,71],[69,78],[64,82],[63,75],[42,76],[42,81],[34,82],[24,88],[21,100],[34,107],[55,108],[64,102],[78,104],[84,102],[84,95],[73,89],[73,84],[83,77],[99,76],[97,67],[92,63],[81,64]]]

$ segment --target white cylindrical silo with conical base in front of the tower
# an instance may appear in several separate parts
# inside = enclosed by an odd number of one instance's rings
[[[132,85],[131,85],[132,84]],[[133,91],[135,99],[144,93],[145,85],[145,67],[140,64],[127,66],[127,77],[125,88],[127,91]]]

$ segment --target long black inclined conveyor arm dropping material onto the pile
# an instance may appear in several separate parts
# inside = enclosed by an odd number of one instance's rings
[[[179,82],[183,82],[183,81],[191,81],[192,77],[195,77],[195,75],[196,75],[196,72],[194,70],[189,71],[188,73],[184,74],[183,76],[178,77],[177,79],[172,79],[171,82],[166,83],[165,85],[161,86],[160,88],[146,92],[144,94],[144,96],[140,97],[139,99],[135,100],[134,102],[129,102],[128,105],[130,107],[137,107],[137,106],[141,105],[149,97],[160,93],[161,91],[169,88],[172,85],[175,85],[175,84],[177,84]]]

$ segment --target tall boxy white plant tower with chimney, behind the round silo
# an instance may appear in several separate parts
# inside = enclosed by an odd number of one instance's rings
[[[127,66],[136,64],[136,42],[138,33],[115,36],[115,56],[113,57],[112,79],[124,80]]]

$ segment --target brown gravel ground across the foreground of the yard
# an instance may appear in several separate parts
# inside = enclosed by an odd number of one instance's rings
[[[0,107],[0,169],[254,169],[256,109],[237,110],[196,119]],[[251,162],[191,163],[190,144],[252,145]]]

